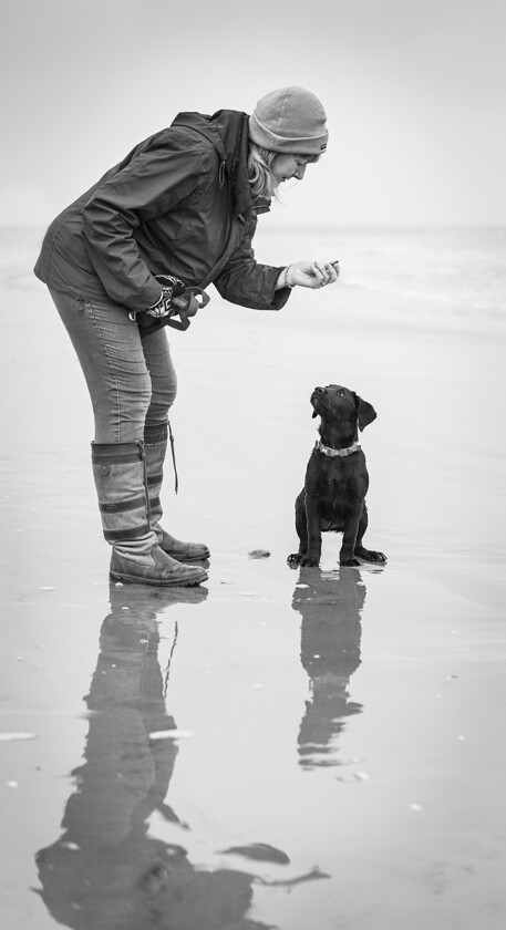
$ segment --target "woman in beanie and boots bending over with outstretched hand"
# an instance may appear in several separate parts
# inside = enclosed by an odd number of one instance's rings
[[[202,566],[187,564],[206,559],[207,547],[161,526],[176,375],[164,329],[155,324],[141,339],[140,321],[164,322],[188,307],[175,296],[177,282],[213,282],[233,303],[279,310],[291,288],[337,279],[326,262],[260,265],[251,248],[257,215],[278,185],[302,179],[324,152],[326,120],[302,87],[267,94],[251,116],[179,113],[48,229],[34,271],[50,289],[90,391],[92,464],[113,580],[193,586],[207,578]]]

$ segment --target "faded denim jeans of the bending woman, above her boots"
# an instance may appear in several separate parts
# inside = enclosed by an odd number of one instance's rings
[[[167,422],[177,379],[165,328],[141,340],[117,303],[78,300],[50,288],[86,379],[95,443],[128,443]]]

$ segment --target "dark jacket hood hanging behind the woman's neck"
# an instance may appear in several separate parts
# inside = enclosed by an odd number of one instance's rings
[[[200,133],[215,146],[220,165],[233,185],[234,213],[250,214],[265,209],[251,197],[248,177],[249,115],[238,110],[218,110],[211,116],[204,113],[178,113],[173,126],[187,126]]]

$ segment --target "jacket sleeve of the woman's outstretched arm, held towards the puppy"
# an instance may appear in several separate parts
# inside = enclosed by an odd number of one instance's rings
[[[254,217],[247,223],[240,245],[213,283],[224,300],[229,300],[230,303],[239,303],[252,310],[281,310],[291,290],[275,290],[285,266],[275,268],[256,261],[251,246],[256,228],[257,219]]]

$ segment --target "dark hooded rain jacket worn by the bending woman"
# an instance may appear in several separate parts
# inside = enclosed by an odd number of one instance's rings
[[[282,267],[255,260],[257,214],[247,169],[248,116],[179,113],[137,145],[49,227],[38,278],[76,298],[144,310],[159,298],[155,275],[210,282],[233,303],[285,306]]]

